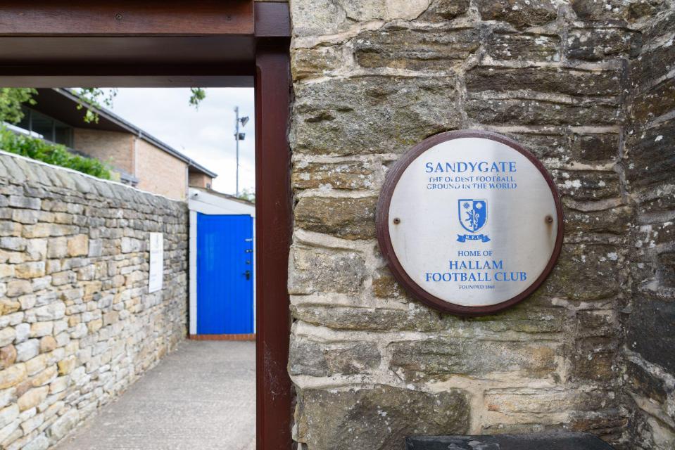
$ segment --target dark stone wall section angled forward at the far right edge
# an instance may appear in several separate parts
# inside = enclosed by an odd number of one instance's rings
[[[624,158],[635,220],[626,388],[635,449],[675,449],[675,13],[657,15],[630,65]]]

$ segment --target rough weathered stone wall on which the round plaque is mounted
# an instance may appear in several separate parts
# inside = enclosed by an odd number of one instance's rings
[[[668,7],[656,0],[291,0],[289,373],[302,449],[393,449],[405,435],[562,428],[633,448],[626,311],[632,302],[636,324],[638,302],[655,311],[643,336],[650,327],[660,337],[672,330],[654,319],[672,318],[663,293],[673,278],[665,223],[675,171],[671,116],[662,114],[673,92],[658,83],[672,72],[673,47],[657,30],[673,24],[654,22]],[[640,122],[628,117],[631,83],[642,93],[660,86],[630,113],[658,127],[631,134]],[[411,300],[374,236],[375,203],[392,163],[427,136],[462,128],[523,143],[564,203],[564,248],[548,280],[517,307],[480,319]],[[633,227],[634,220],[651,225]],[[636,233],[645,250],[634,251]],[[652,243],[658,250],[647,251]],[[653,278],[652,268],[662,289],[638,288],[638,269]],[[672,338],[659,342],[667,352]],[[649,420],[661,428],[664,416],[672,420],[672,378],[658,380],[643,386],[663,406],[643,419],[646,435]]]

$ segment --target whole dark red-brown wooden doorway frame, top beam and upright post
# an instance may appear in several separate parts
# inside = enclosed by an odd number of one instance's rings
[[[263,450],[291,448],[289,42],[284,2],[0,0],[0,86],[254,87]]]

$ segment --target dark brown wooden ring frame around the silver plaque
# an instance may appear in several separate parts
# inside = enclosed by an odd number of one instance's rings
[[[454,304],[441,300],[435,295],[431,295],[426,290],[424,290],[420,285],[415,283],[415,281],[408,276],[403,266],[401,266],[396,256],[396,252],[393,250],[393,245],[391,245],[391,238],[389,237],[389,205],[391,205],[391,196],[393,191],[398,184],[400,176],[403,175],[405,169],[408,168],[410,163],[416,160],[422,153],[436,146],[437,144],[445,141],[451,141],[453,139],[460,138],[482,138],[490,139],[499,143],[503,143],[514,150],[517,150],[519,153],[524,155],[528,160],[534,164],[534,166],[541,172],[542,176],[546,180],[548,187],[550,188],[551,194],[553,195],[553,200],[555,202],[555,211],[557,214],[557,234],[555,236],[555,245],[553,247],[553,253],[551,254],[548,264],[546,264],[543,272],[538,278],[532,283],[529,288],[524,290],[519,295],[512,297],[508,300],[505,300],[500,303],[491,304],[488,306],[479,306],[479,307],[467,307],[460,304]],[[445,133],[436,134],[431,136],[424,141],[417,144],[413,147],[408,153],[403,155],[403,158],[400,158],[398,162],[391,168],[389,174],[386,176],[384,181],[384,186],[379,196],[379,201],[377,203],[377,212],[375,214],[376,228],[377,228],[377,241],[379,243],[380,251],[384,255],[386,261],[389,263],[389,269],[396,278],[396,280],[403,285],[403,287],[408,290],[408,292],[415,297],[420,302],[427,304],[429,307],[440,309],[441,311],[446,311],[451,314],[456,314],[458,316],[485,316],[487,314],[494,314],[498,311],[502,311],[508,307],[512,307],[514,304],[524,300],[528,295],[533,293],[543,281],[546,279],[550,271],[553,270],[553,266],[557,261],[558,256],[560,256],[560,250],[562,250],[562,237],[564,233],[563,227],[563,216],[562,216],[562,203],[560,202],[560,195],[557,193],[555,184],[550,174],[546,168],[541,164],[541,162],[523,146],[521,146],[516,141],[507,138],[501,134],[493,133],[491,131],[482,131],[482,130],[460,130],[460,131],[446,131]]]

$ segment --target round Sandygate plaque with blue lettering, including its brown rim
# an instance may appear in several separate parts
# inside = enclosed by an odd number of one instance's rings
[[[562,207],[534,155],[489,131],[425,139],[391,168],[377,239],[413,297],[464,316],[531,294],[562,247]]]

